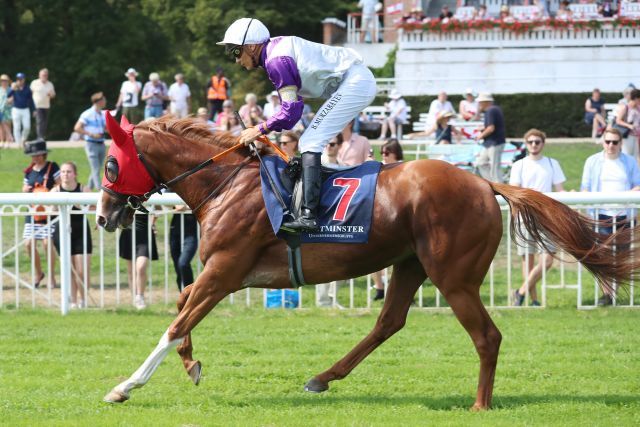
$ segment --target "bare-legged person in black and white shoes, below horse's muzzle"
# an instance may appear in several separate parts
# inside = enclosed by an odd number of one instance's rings
[[[127,274],[129,277],[129,287],[134,290],[135,298],[133,305],[138,310],[147,307],[144,299],[144,291],[147,285],[147,269],[149,268],[149,260],[158,259],[158,247],[156,245],[156,217],[152,217],[151,243],[149,243],[149,214],[135,215],[135,221],[132,228],[122,230],[118,247],[120,249],[120,257],[127,260]],[[135,230],[135,236],[132,233]],[[135,266],[133,265],[133,251],[135,238]]]

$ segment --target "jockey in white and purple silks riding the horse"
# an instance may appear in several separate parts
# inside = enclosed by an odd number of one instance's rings
[[[326,99],[300,138],[302,153],[302,212],[282,226],[316,231],[320,204],[320,158],[329,140],[366,108],[376,94],[376,82],[354,50],[313,43],[299,37],[271,38],[257,19],[241,18],[227,29],[226,52],[251,70],[262,67],[274,84],[282,107],[265,123],[246,129],[240,141],[249,144],[271,131],[291,129],[302,116],[302,98]]]

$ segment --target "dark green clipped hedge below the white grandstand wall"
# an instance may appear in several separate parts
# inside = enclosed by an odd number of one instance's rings
[[[496,104],[502,108],[507,136],[520,138],[531,128],[544,131],[550,138],[591,137],[591,127],[584,123],[584,102],[589,93],[520,93],[516,95],[494,95]],[[607,103],[618,102],[620,93],[603,93]],[[429,111],[435,96],[405,96],[411,105],[412,121],[420,113]],[[462,96],[452,95],[449,100],[457,110]],[[372,105],[386,101],[377,97]],[[407,129],[408,130],[408,129]]]

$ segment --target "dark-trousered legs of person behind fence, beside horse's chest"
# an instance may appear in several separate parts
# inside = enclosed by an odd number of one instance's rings
[[[169,248],[180,292],[193,283],[191,260],[198,250],[198,221],[195,215],[185,213],[186,209],[184,205],[175,206],[169,229]]]

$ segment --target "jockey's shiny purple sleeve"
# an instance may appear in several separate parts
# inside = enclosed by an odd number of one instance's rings
[[[290,56],[271,58],[266,62],[265,69],[276,90],[280,90],[285,86],[295,86],[300,89],[301,80],[298,66]],[[280,132],[283,129],[291,129],[302,117],[303,108],[304,102],[299,95],[297,101],[282,101],[280,111],[271,116],[265,125],[270,131],[276,132]]]

